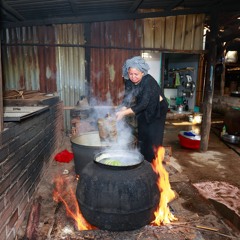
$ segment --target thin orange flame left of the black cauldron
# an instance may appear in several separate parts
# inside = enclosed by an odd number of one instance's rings
[[[75,192],[67,178],[63,179],[63,177],[58,176],[54,182],[53,200],[65,205],[67,215],[75,220],[78,230],[94,229],[81,214]]]

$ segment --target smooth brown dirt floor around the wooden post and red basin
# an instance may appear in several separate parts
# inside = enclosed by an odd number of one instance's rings
[[[222,126],[221,119],[213,120],[208,151],[202,153],[182,148],[177,138],[181,130],[200,132],[200,126],[172,120],[166,125],[164,145],[172,147],[172,160],[176,161],[178,171],[186,174],[192,183],[226,181],[240,188],[240,145],[227,144],[220,139]]]

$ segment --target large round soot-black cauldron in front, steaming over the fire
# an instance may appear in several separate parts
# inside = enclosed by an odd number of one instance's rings
[[[109,161],[110,159],[110,161]],[[105,164],[107,160],[116,165]],[[159,203],[151,164],[133,151],[104,151],[81,172],[77,200],[84,218],[99,229],[134,230],[154,220]]]

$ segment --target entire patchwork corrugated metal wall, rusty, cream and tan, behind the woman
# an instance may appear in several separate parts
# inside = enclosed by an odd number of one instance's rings
[[[127,58],[144,50],[202,50],[203,21],[200,14],[98,22],[90,25],[90,39],[83,24],[4,29],[3,87],[57,92],[65,107],[75,106],[90,90],[96,104],[117,105],[123,93],[122,64]],[[69,126],[66,111],[65,127]]]

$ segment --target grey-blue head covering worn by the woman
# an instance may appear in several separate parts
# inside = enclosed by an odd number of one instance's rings
[[[125,79],[129,79],[129,76],[128,76],[129,68],[136,68],[140,72],[143,72],[144,75],[146,75],[148,73],[148,70],[150,69],[149,65],[140,56],[130,58],[130,59],[126,60],[125,63],[123,64],[122,74]]]

